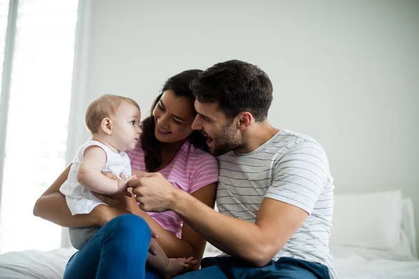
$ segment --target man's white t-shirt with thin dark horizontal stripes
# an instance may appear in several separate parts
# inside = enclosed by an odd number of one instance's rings
[[[251,153],[219,156],[219,212],[254,223],[265,197],[309,213],[300,229],[275,255],[328,266],[337,278],[329,250],[333,178],[323,148],[306,135],[281,130]]]

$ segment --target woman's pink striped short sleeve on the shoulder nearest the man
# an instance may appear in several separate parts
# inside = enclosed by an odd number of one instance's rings
[[[198,164],[193,167],[189,194],[218,181],[219,163],[210,153],[203,153]]]

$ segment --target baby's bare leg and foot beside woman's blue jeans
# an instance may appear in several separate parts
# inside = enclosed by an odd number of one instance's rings
[[[161,273],[163,273],[165,278],[172,278],[179,274],[182,274],[189,268],[189,266],[196,264],[196,261],[193,260],[193,257],[186,258],[178,258],[178,259],[169,259],[166,256],[165,252],[159,244],[152,239],[150,245],[153,245],[156,250],[156,255],[152,255],[149,252],[147,257],[147,264],[152,266],[154,269],[157,269]]]

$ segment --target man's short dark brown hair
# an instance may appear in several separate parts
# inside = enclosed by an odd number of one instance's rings
[[[200,103],[218,103],[229,119],[247,111],[258,122],[266,119],[273,98],[267,74],[239,60],[207,68],[193,80],[191,90]]]

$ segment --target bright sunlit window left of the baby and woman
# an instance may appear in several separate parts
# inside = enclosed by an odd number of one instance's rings
[[[32,209],[66,167],[77,13],[78,0],[0,0],[0,61],[11,63],[3,69],[10,84],[3,81],[1,91],[7,114],[0,130],[0,137],[6,134],[0,158],[0,252],[61,245],[61,227],[35,218]],[[8,28],[13,36],[5,35],[7,19],[15,24]],[[4,45],[10,38],[8,52]]]

